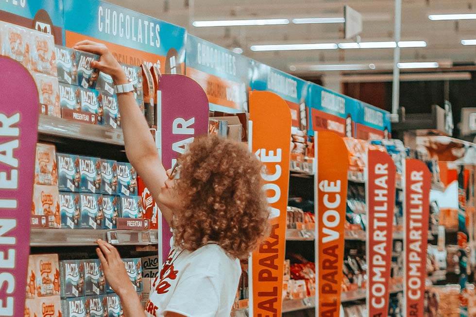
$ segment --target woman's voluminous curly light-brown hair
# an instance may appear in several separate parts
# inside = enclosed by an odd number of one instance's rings
[[[216,135],[196,138],[179,163],[175,244],[194,251],[213,241],[231,256],[248,257],[269,232],[261,163],[244,144]]]

